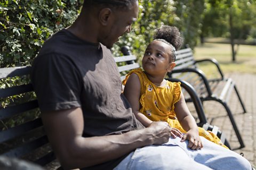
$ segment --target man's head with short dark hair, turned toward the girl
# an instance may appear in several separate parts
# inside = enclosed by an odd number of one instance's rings
[[[85,0],[82,12],[86,11],[98,21],[97,42],[111,48],[118,37],[131,31],[139,5],[137,0]]]

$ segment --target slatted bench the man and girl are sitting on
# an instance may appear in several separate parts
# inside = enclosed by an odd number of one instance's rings
[[[121,79],[131,69],[140,67],[136,57],[123,48],[126,56],[115,57]],[[25,159],[46,169],[62,169],[54,156],[40,118],[37,99],[31,86],[31,67],[10,67],[0,69],[0,156]],[[173,79],[175,80],[175,79]],[[212,130],[228,145],[217,126],[206,121],[202,103],[195,90],[187,82],[181,81],[195,104],[200,122],[206,130]]]

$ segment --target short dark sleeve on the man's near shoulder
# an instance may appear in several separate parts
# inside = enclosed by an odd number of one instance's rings
[[[38,56],[31,72],[31,81],[41,112],[80,107],[81,80],[81,74],[67,56]]]

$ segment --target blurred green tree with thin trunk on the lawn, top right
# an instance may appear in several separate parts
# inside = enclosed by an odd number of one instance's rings
[[[201,37],[228,36],[232,50],[232,61],[235,62],[240,40],[249,37],[251,30],[256,27],[255,1],[208,0],[206,6]],[[238,39],[237,42],[236,39]]]

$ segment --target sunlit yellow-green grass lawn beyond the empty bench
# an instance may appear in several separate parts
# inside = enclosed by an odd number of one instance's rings
[[[205,43],[203,46],[199,45],[194,49],[194,55],[196,60],[215,58],[220,63],[224,74],[230,72],[256,74],[256,46],[239,45],[235,62],[232,62],[230,44]],[[206,75],[214,74],[215,68],[212,64],[206,63],[200,65],[200,69],[202,69]]]

